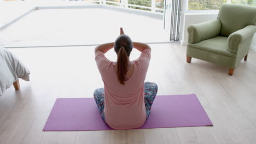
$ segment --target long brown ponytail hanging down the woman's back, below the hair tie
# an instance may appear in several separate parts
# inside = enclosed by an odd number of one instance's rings
[[[124,85],[125,81],[125,75],[127,74],[128,70],[128,56],[125,51],[125,47],[121,46],[118,52],[118,60],[117,60],[117,75],[118,75],[118,80],[121,84]]]

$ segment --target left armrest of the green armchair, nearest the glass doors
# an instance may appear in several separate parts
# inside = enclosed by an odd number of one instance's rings
[[[221,27],[222,23],[218,19],[189,26],[188,43],[195,44],[202,40],[214,38],[219,35]]]

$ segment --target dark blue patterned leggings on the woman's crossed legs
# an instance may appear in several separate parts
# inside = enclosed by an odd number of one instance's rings
[[[144,83],[144,101],[147,113],[147,119],[150,114],[151,107],[153,105],[153,101],[155,99],[156,93],[158,93],[158,85],[154,82],[145,82]],[[105,121],[104,116],[104,88],[97,88],[94,91],[94,99],[98,106],[98,111],[100,111],[101,117],[103,121]]]

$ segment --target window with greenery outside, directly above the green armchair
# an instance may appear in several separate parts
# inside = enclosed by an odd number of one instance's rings
[[[188,10],[216,10],[224,3],[256,6],[256,0],[189,0]]]

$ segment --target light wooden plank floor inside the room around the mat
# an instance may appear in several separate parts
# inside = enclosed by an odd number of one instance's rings
[[[158,95],[195,93],[213,127],[43,132],[56,98],[92,97],[103,86],[94,47],[9,49],[31,70],[31,82],[20,80],[20,91],[0,97],[0,143],[256,143],[255,52],[229,76],[215,64],[186,63],[179,44],[151,46],[146,80],[158,83]],[[114,51],[107,57],[114,61]]]

